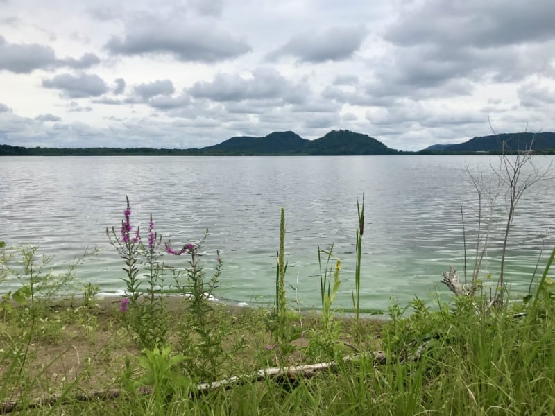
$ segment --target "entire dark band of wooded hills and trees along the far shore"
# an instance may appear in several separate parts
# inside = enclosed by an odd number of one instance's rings
[[[231,137],[205,148],[25,148],[0,144],[0,156],[281,156],[281,155],[499,155],[532,148],[533,153],[555,154],[555,133],[514,133],[473,137],[461,144],[434,145],[418,152],[388,148],[368,135],[332,130],[315,140],[296,133],[273,132],[265,137]]]

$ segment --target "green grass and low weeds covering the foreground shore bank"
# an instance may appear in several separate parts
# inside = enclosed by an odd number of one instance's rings
[[[407,318],[402,317],[404,308],[394,304],[391,320],[363,320],[355,329],[355,320],[337,315],[341,354],[355,354],[355,348],[379,350],[385,361],[361,354],[310,379],[268,377],[255,382],[246,377],[228,390],[198,396],[191,396],[191,385],[200,380],[187,367],[176,363],[155,374],[157,363],[141,365],[146,355],[128,336],[118,300],[94,300],[98,306],[91,308],[80,300],[53,301],[35,311],[33,333],[26,327],[28,308],[19,306],[0,321],[0,397],[17,400],[20,410],[15,414],[25,415],[549,415],[555,412],[555,304],[550,286],[540,291],[534,317],[515,318],[526,308],[516,304],[476,313],[470,298],[438,301],[434,308],[416,299],[408,306]],[[186,309],[187,300],[181,297],[165,302],[172,316]],[[305,331],[285,357],[266,349],[272,343],[264,323],[266,310],[217,306],[212,313],[225,333],[225,359],[216,378],[251,374],[275,365],[278,358],[290,364],[313,362],[306,347],[310,329],[320,324],[317,313],[290,321],[302,322]],[[360,327],[365,332],[352,345],[352,331]],[[174,321],[170,351],[179,345],[177,329],[179,322]],[[30,348],[20,366],[27,340]],[[164,363],[176,355],[170,352]],[[140,395],[147,381],[155,392]],[[107,389],[120,389],[121,395],[75,399]],[[65,394],[66,400],[25,407],[53,393]]]

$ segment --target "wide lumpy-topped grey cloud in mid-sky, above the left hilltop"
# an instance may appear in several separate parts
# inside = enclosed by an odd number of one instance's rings
[[[219,73],[214,81],[195,83],[188,92],[195,98],[210,98],[214,101],[275,98],[283,103],[302,103],[309,94],[309,87],[305,83],[291,83],[277,70],[264,67],[255,69],[252,78]]]

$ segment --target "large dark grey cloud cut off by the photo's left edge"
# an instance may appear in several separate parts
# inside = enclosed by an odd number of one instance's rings
[[[56,58],[49,46],[40,44],[12,44],[0,36],[0,69],[15,73],[30,73],[35,69],[56,69],[71,67],[83,69],[100,62],[94,53],[86,53],[82,58]]]

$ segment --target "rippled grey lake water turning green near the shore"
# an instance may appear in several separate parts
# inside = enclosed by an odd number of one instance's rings
[[[547,168],[554,157],[535,160]],[[391,297],[406,303],[414,295],[447,293],[439,281],[450,266],[463,277],[461,203],[468,245],[475,244],[477,228],[477,193],[465,167],[488,180],[490,163],[497,166],[498,157],[1,157],[0,240],[40,245],[55,256],[56,271],[96,245],[99,254],[77,276],[117,292],[123,263],[105,227],[121,227],[127,195],[132,225],[146,231],[152,213],[155,229],[175,245],[196,241],[210,228],[204,265],[214,267],[216,249],[224,261],[216,296],[271,304],[283,206],[287,281],[297,288],[289,288],[291,304],[296,297],[304,307],[319,304],[318,245],[333,243],[343,264],[336,305],[349,307],[357,198],[364,194],[361,304],[386,309]],[[545,264],[554,244],[554,207],[552,179],[534,185],[518,206],[507,265],[513,293],[527,290],[544,241]],[[497,198],[496,213],[504,209],[504,198]],[[484,278],[498,273],[500,240],[497,232]],[[1,292],[14,284],[3,282]]]

